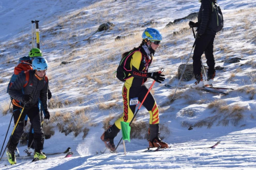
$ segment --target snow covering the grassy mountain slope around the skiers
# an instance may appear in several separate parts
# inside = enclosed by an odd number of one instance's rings
[[[188,21],[171,28],[164,28],[174,19],[186,17],[198,12],[197,1],[14,1],[0,2],[0,103],[9,107],[9,95],[6,87],[11,78],[17,58],[27,55],[31,48],[31,20],[40,20],[40,47],[49,61],[49,86],[56,102],[70,102],[62,108],[50,109],[51,117],[58,112],[70,114],[70,121],[82,123],[89,129],[83,139],[83,132],[77,137],[74,133],[65,136],[58,129],[61,118],[53,121],[54,135],[45,140],[45,153],[64,152],[70,147],[74,155],[49,155],[47,160],[31,163],[17,160],[9,165],[6,159],[0,161],[0,169],[255,169],[256,168],[256,102],[255,102],[255,1],[218,1],[224,15],[224,31],[215,38],[214,54],[216,66],[224,67],[216,73],[216,86],[228,86],[235,90],[228,95],[210,94],[194,89],[178,89],[177,100],[169,102],[174,89],[163,84],[176,86],[177,68],[186,63],[192,49],[194,38],[191,31],[173,36],[173,31],[188,27]],[[95,33],[101,23],[114,23],[112,30]],[[155,25],[147,25],[150,21]],[[100,140],[103,134],[103,121],[114,116],[111,123],[122,113],[122,83],[113,78],[120,56],[132,47],[138,46],[140,34],[147,26],[158,28],[163,34],[161,47],[156,51],[150,71],[164,68],[166,80],[155,84],[153,95],[160,107],[161,137],[172,147],[160,152],[147,150],[146,139],[131,139],[126,142],[126,154],[123,145],[117,153],[96,154],[105,150]],[[95,33],[95,34],[93,34]],[[125,41],[116,42],[117,36],[132,34]],[[90,38],[89,41],[85,39]],[[18,57],[16,57],[18,56]],[[223,63],[239,57],[239,63]],[[206,65],[205,57],[202,58]],[[9,62],[6,62],[9,61]],[[60,65],[63,61],[72,61]],[[192,60],[190,59],[190,62]],[[147,86],[152,81],[147,82]],[[194,79],[181,82],[181,85],[194,83]],[[250,91],[254,88],[254,91]],[[209,103],[220,100],[227,105],[228,111]],[[115,103],[108,109],[100,104]],[[242,119],[234,121],[233,109],[239,107]],[[74,110],[84,110],[90,123],[83,122],[84,117],[75,115]],[[232,114],[233,115],[232,115]],[[196,126],[188,130],[188,124],[218,116],[211,126]],[[0,145],[9,126],[11,114],[0,116]],[[137,121],[148,123],[149,115],[141,108]],[[224,126],[223,119],[229,121]],[[13,129],[13,121],[8,136]],[[50,123],[49,123],[50,124]],[[46,125],[47,126],[47,125]],[[143,134],[142,134],[143,136]],[[121,139],[121,133],[114,142]],[[217,141],[216,148],[210,147]],[[5,145],[4,145],[5,146]],[[24,145],[18,145],[20,155],[25,155]],[[4,153],[4,157],[5,157]]]

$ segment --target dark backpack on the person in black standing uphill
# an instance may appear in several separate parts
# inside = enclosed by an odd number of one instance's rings
[[[210,1],[210,0],[209,0]],[[210,15],[210,22],[208,25],[208,28],[210,28],[211,31],[221,31],[224,25],[223,15],[220,9],[220,6],[218,4],[211,2],[211,15]]]

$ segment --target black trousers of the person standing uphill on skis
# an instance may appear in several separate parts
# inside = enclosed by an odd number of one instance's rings
[[[195,41],[195,49],[193,55],[193,68],[194,75],[201,74],[202,63],[201,56],[203,52],[205,52],[205,57],[207,59],[208,65],[208,76],[213,75],[215,73],[215,59],[213,56],[213,41],[215,39],[215,35],[210,34],[202,34],[200,38],[197,38]]]

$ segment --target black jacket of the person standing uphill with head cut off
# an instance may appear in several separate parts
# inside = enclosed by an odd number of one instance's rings
[[[216,3],[216,0],[202,0],[200,10],[198,12],[198,33],[199,34],[212,34],[215,35],[215,31],[211,31],[208,28],[208,23],[210,21],[212,8],[212,2]]]

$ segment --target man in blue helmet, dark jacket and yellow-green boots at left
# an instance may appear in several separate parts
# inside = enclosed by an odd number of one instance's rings
[[[32,67],[33,70],[20,73],[12,86],[9,87],[9,95],[12,97],[12,104],[14,105],[14,123],[17,122],[22,108],[25,107],[7,147],[6,155],[11,164],[16,163],[14,150],[23,134],[26,115],[30,118],[30,123],[34,129],[34,158],[38,158],[39,160],[46,159],[46,156],[41,152],[43,149],[43,130],[41,127],[38,99],[40,97],[43,108],[45,109],[45,119],[49,119],[50,115],[47,104],[48,77],[46,76],[48,63],[45,58],[36,57],[33,59]]]

